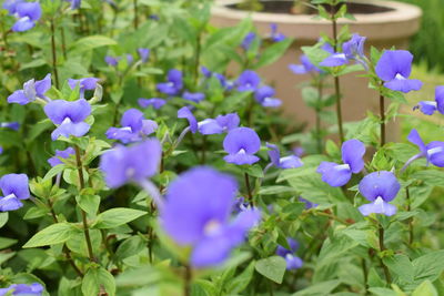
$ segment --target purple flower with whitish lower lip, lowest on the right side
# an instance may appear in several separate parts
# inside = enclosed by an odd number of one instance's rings
[[[370,202],[359,207],[361,214],[369,216],[372,213],[392,216],[396,214],[396,206],[389,204],[396,197],[401,185],[392,172],[374,172],[360,182],[361,194]]]

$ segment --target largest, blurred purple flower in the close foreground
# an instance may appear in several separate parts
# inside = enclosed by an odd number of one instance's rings
[[[194,167],[169,185],[160,223],[178,245],[191,247],[193,267],[222,264],[260,221],[258,210],[231,218],[236,191],[233,177],[210,167]]]

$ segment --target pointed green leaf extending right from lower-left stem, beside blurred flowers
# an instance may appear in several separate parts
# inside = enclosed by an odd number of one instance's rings
[[[145,214],[147,212],[133,208],[125,208],[125,207],[111,208],[99,214],[93,227],[102,229],[114,228],[125,223],[129,223],[133,220],[137,220]]]

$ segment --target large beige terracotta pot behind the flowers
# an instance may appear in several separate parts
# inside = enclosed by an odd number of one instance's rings
[[[287,14],[268,12],[248,12],[235,9],[240,0],[219,0],[212,10],[212,23],[218,27],[235,25],[240,20],[252,18],[261,35],[270,33],[270,24],[276,23],[279,32],[295,39],[292,48],[274,64],[261,69],[260,73],[268,83],[276,86],[276,96],[284,102],[283,110],[289,116],[314,124],[314,113],[301,99],[301,91],[296,85],[310,79],[309,75],[296,75],[290,72],[290,63],[300,63],[300,48],[314,44],[321,33],[331,34],[330,22],[314,20],[309,14]],[[373,10],[373,13],[353,13],[356,21],[339,20],[339,25],[350,25],[350,32],[360,33],[367,38],[366,49],[374,45],[379,49],[406,49],[408,39],[418,30],[421,10],[417,7],[381,0],[349,1]],[[360,74],[360,73],[357,73]],[[367,110],[379,110],[379,96],[374,90],[367,88],[365,78],[357,78],[356,73],[341,79],[343,93],[343,115],[345,121],[361,120]],[[390,140],[394,140],[393,134]]]

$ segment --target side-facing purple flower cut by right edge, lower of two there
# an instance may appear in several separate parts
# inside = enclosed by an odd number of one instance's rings
[[[425,157],[427,160],[427,164],[432,163],[438,167],[444,167],[444,142],[432,141],[425,145],[415,129],[410,132],[407,140],[420,149],[420,153],[412,156],[405,163],[403,170],[405,170],[413,161],[421,157]]]

